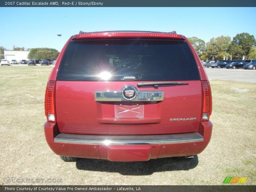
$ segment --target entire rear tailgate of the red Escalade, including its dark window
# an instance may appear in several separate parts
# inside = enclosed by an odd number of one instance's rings
[[[125,80],[127,76],[135,79]],[[188,84],[137,86],[155,81]],[[138,92],[162,92],[163,99],[119,100],[126,85]],[[116,98],[96,100],[95,92],[114,92]],[[60,63],[55,100],[57,124],[63,133],[196,132],[202,84],[193,54],[183,41],[71,41]]]

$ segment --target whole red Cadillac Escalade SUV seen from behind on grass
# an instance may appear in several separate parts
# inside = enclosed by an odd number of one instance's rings
[[[210,141],[208,78],[185,36],[104,31],[71,36],[45,93],[45,137],[65,161],[189,156]]]

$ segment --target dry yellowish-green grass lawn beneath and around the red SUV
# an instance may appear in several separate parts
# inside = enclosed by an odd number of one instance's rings
[[[0,67],[0,185],[4,178],[62,179],[66,185],[222,185],[225,177],[256,184],[256,84],[210,81],[212,139],[192,160],[63,162],[48,147],[43,124],[52,66]],[[238,93],[232,87],[249,89]],[[21,183],[23,184],[23,183]],[[39,183],[43,185],[55,183]]]

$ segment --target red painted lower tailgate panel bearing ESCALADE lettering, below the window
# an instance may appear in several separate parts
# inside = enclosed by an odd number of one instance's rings
[[[137,83],[129,82],[134,86]],[[55,103],[58,128],[62,133],[107,135],[197,132],[202,110],[202,84],[201,81],[186,83],[189,84],[159,85],[158,89],[149,86],[138,88],[138,91],[164,91],[164,100],[143,102],[144,118],[132,119],[129,125],[127,118],[116,118],[120,124],[113,125],[106,123],[114,123],[115,102],[96,102],[94,91],[119,91],[127,82],[57,81]],[[170,121],[170,118],[191,117],[196,120]]]

